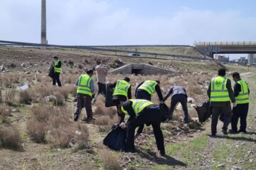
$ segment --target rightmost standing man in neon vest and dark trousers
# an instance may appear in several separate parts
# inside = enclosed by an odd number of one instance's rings
[[[233,73],[233,80],[235,81],[234,92],[237,106],[233,108],[233,115],[231,117],[231,133],[247,132],[246,118],[249,109],[249,94],[250,89],[244,79],[240,78],[238,72]],[[240,118],[240,130],[238,130],[238,119]]]

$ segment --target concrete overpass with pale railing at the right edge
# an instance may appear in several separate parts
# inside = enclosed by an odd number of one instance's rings
[[[195,42],[194,46],[203,55],[213,58],[214,54],[256,54],[256,42]]]

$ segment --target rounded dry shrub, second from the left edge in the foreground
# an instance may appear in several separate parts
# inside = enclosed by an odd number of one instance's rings
[[[26,123],[26,129],[31,140],[36,143],[41,143],[46,141],[46,123],[38,122],[36,120],[28,120]]]

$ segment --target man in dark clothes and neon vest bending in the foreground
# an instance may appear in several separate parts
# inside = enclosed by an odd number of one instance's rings
[[[163,113],[158,105],[144,99],[131,99],[121,103],[118,110],[124,115],[129,115],[127,123],[122,122],[119,124],[121,128],[127,127],[126,152],[136,152],[134,146],[135,129],[146,124],[147,126],[152,125],[157,149],[159,149],[162,156],[165,156],[164,135],[160,128]]]

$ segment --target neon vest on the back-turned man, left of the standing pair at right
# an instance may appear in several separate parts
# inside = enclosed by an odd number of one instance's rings
[[[210,101],[230,101],[227,81],[228,77],[215,77],[210,81]]]

